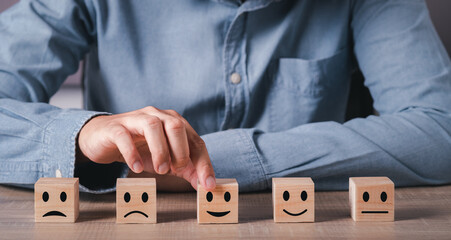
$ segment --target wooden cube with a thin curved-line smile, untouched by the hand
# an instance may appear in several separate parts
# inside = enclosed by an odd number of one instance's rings
[[[273,178],[274,222],[314,222],[315,184],[311,178]]]

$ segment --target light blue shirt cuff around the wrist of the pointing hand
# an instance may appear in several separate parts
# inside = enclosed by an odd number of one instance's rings
[[[75,167],[78,132],[91,118],[108,113],[83,110],[62,110],[45,127],[42,177],[79,177],[80,190],[91,193],[114,191],[117,177],[126,177],[128,168],[120,163],[86,163]],[[97,181],[96,181],[97,180]]]

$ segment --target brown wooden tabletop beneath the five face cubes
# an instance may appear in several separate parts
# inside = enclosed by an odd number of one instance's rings
[[[197,224],[195,193],[158,193],[157,224],[116,224],[115,195],[85,193],[76,223],[35,223],[33,191],[0,186],[0,239],[451,239],[451,186],[396,189],[395,222],[354,222],[347,191],[315,197],[315,223],[274,223],[270,192],[240,195],[239,224]]]

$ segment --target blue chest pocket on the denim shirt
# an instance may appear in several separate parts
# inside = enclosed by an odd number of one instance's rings
[[[269,69],[270,130],[343,121],[349,93],[349,50],[305,60],[280,58]]]

